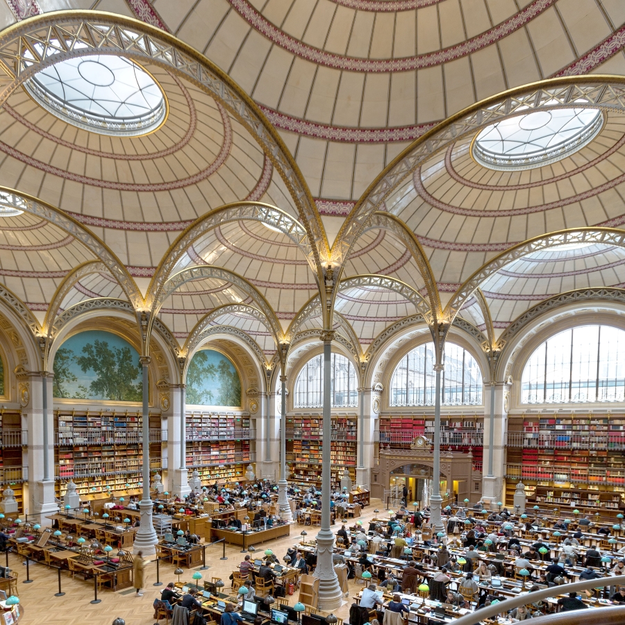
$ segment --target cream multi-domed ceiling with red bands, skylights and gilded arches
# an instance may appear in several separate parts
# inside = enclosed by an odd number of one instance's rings
[[[72,31],[92,8],[120,17]],[[361,352],[423,298],[485,332],[467,281],[496,334],[562,292],[622,288],[613,233],[473,276],[625,221],[624,22],[618,0],[0,0],[0,64],[28,74],[0,81],[0,279],[40,324],[153,301],[179,347],[235,326],[269,359],[322,263],[403,285],[335,287]],[[92,57],[68,43],[87,40]],[[583,74],[616,76],[519,88]]]

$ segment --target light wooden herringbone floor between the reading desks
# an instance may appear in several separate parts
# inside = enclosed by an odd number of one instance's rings
[[[374,517],[374,509],[378,507],[382,509],[381,501],[372,500],[372,505],[367,506],[360,517],[363,521],[368,521]],[[366,526],[366,524],[365,524]],[[336,532],[340,528],[340,524],[333,526]],[[306,529],[308,535],[306,542],[312,540],[319,531],[319,528],[311,528],[293,524],[291,526],[290,537],[281,538],[273,542],[268,542],[258,546],[258,553],[262,553],[265,549],[272,549],[278,558],[282,559],[286,550],[294,542],[297,542],[301,536],[299,533]],[[228,577],[233,570],[238,570],[238,565],[244,558],[244,554],[239,553],[240,548],[226,546],[226,557],[228,560],[219,560],[222,557],[222,544],[217,547],[207,547],[206,564],[210,566],[207,571],[201,571],[203,579],[210,580],[211,577],[221,577],[229,589],[230,581]],[[0,565],[4,565],[3,554],[0,554]],[[156,581],[156,564],[151,563],[147,567],[146,587],[144,588],[143,597],[135,597],[135,592],[130,589],[121,590],[119,592],[111,592],[110,590],[102,590],[98,594],[101,603],[92,605],[90,601],[94,598],[93,581],[82,581],[79,578],[72,580],[67,571],[61,572],[62,590],[65,597],[55,597],[58,592],[58,574],[56,569],[49,569],[47,566],[32,563],[29,565],[30,577],[33,583],[25,584],[26,567],[22,564],[22,558],[13,555],[9,556],[9,566],[19,575],[18,591],[19,602],[24,606],[24,619],[20,625],[111,625],[113,619],[122,617],[126,621],[126,625],[151,625],[154,623],[152,603],[156,597],[160,597],[160,591],[170,581],[176,581],[174,576],[174,567],[167,562],[160,563],[160,581],[163,586],[154,586]],[[198,567],[199,568],[199,567]],[[181,576],[181,581],[192,581],[191,576],[198,569],[185,569],[185,574]],[[362,587],[361,584],[356,585],[353,581],[349,581],[349,601],[335,610],[338,617],[343,617],[347,621],[349,606],[351,606],[351,597]],[[295,591],[293,597],[290,597],[290,605],[293,606],[297,601],[298,591]],[[165,620],[163,620],[165,625]]]

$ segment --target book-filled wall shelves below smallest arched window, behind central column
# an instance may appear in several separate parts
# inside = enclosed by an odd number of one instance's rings
[[[322,485],[323,418],[313,415],[287,417],[286,452],[292,474],[288,480],[301,487]],[[358,426],[356,417],[332,417],[331,488],[340,490],[347,468],[356,481]]]

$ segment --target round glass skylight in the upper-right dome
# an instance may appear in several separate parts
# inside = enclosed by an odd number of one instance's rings
[[[603,126],[596,108],[556,108],[502,119],[479,133],[475,160],[490,169],[533,169],[565,158],[590,143]]]

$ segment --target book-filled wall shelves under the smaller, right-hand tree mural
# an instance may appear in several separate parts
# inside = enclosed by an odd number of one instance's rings
[[[252,431],[247,415],[191,412],[186,415],[186,462],[201,481],[226,483],[244,479],[252,460]]]

